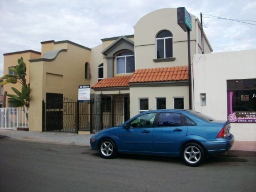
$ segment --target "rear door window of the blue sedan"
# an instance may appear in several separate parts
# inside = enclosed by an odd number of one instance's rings
[[[170,127],[170,126],[181,126],[182,117],[179,113],[160,113],[157,126],[158,127]]]

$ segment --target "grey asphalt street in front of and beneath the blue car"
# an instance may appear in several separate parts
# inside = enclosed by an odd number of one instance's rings
[[[255,191],[256,157],[217,155],[199,167],[181,159],[119,155],[87,146],[0,139],[0,191]],[[243,155],[245,156],[245,155]]]

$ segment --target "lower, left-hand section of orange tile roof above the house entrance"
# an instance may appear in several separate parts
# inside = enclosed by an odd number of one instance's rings
[[[115,76],[113,78],[105,78],[96,83],[91,88],[106,88],[106,87],[128,87],[131,75]]]

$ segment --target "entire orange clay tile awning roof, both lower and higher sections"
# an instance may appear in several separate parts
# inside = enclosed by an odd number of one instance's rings
[[[91,88],[128,87],[129,83],[184,80],[189,80],[188,66],[137,69],[133,75],[115,76],[113,78],[102,79]]]

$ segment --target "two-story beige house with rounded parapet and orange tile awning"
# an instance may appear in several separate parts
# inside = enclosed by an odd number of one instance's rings
[[[201,26],[194,15],[191,25],[193,61],[194,54],[202,53]],[[45,41],[41,42],[41,53],[27,52],[33,53],[25,59],[31,89],[30,131],[43,130],[42,101],[61,98],[75,102],[79,85],[91,86],[91,101],[105,102],[103,108],[101,104],[93,110],[87,108],[87,113],[98,110],[101,115],[115,114],[103,122],[103,127],[109,126],[109,121],[119,125],[146,110],[189,108],[187,33],[177,24],[177,9],[160,9],[145,15],[135,24],[134,35],[101,40],[101,45],[91,49],[70,41]],[[211,53],[205,34],[203,42],[204,52]],[[5,74],[19,57],[25,56],[5,54]],[[10,91],[10,86],[5,85],[4,90]],[[95,119],[91,121],[97,124]]]

